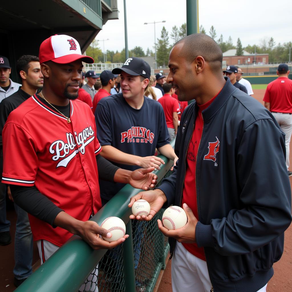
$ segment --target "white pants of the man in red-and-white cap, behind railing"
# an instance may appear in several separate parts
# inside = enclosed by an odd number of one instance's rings
[[[60,246],[52,244],[47,240],[37,240],[37,247],[39,249],[39,257],[41,258],[41,265],[57,251]],[[84,284],[81,285],[79,291],[90,291],[98,292],[98,287],[96,285],[98,278],[98,265],[95,267],[93,272],[88,276]]]

